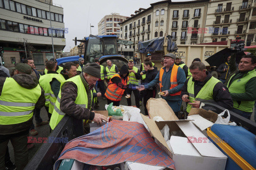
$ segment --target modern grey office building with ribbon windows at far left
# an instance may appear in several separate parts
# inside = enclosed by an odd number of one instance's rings
[[[46,0],[0,0],[0,46],[4,47],[2,60],[6,67],[14,67],[26,57],[33,57],[36,65],[43,65],[46,58],[53,57],[51,36],[55,58],[60,57],[68,30],[63,22],[63,8],[49,3]]]

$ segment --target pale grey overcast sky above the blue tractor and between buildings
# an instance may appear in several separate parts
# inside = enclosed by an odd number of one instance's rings
[[[172,2],[186,1],[173,0]],[[53,0],[54,4],[59,4],[64,9],[65,28],[68,33],[65,34],[66,47],[65,52],[69,52],[70,47],[73,48],[75,43],[73,39],[82,39],[90,35],[90,23],[92,35],[98,35],[98,22],[111,13],[119,13],[120,15],[130,16],[140,7],[148,8],[151,3],[158,0]]]

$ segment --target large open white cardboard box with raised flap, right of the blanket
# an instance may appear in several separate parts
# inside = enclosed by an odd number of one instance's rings
[[[174,160],[177,170],[183,169],[225,169],[225,156],[205,135],[189,120],[154,122],[141,115],[147,124],[156,143]],[[167,124],[172,131],[182,131],[182,137],[171,136],[170,146],[167,146],[162,130]]]

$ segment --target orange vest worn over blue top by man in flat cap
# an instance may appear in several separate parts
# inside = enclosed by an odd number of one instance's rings
[[[177,82],[177,72],[178,72],[178,68],[179,66],[178,65],[173,65],[172,67],[172,73],[171,73],[171,87],[170,89],[173,89],[174,87],[178,86],[178,82]],[[162,91],[162,78],[163,78],[163,74],[164,74],[164,69],[163,67],[160,69],[159,71],[159,85],[160,85],[160,89]],[[178,91],[176,92],[175,94],[169,94],[170,96],[177,96],[177,95],[180,95],[181,94],[181,91]]]

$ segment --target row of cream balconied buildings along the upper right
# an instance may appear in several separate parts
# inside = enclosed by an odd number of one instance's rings
[[[177,44],[201,44],[228,39],[255,43],[255,0],[161,1],[139,8],[120,23],[121,38],[134,42],[171,35]],[[239,37],[237,37],[239,36]]]

